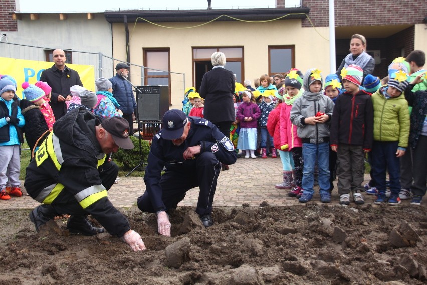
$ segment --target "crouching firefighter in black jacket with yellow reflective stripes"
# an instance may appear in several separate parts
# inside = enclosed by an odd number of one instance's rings
[[[130,229],[128,220],[107,197],[118,167],[106,154],[117,152],[119,147],[133,148],[129,123],[121,117],[101,122],[80,108],[56,121],[26,169],[25,189],[43,203],[30,213],[37,231],[55,216],[69,214],[67,228],[71,233],[103,232],[89,222],[90,214],[134,251],[145,249],[141,236]]]

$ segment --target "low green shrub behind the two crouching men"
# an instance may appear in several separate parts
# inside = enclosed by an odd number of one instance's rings
[[[130,136],[134,148],[131,150],[119,149],[119,151],[113,154],[115,161],[121,162],[125,169],[132,169],[137,166],[141,160],[147,162],[148,153],[150,152],[150,145],[148,141],[141,139],[141,153],[142,158],[139,156],[139,138]]]

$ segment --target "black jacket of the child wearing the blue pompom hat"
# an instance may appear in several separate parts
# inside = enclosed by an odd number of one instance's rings
[[[32,152],[36,141],[44,132],[49,129],[48,124],[46,123],[45,117],[40,111],[39,106],[31,103],[27,99],[23,99],[21,100],[19,107],[21,108],[21,114],[25,119],[25,125],[23,128],[25,139],[27,140],[30,151]],[[49,132],[47,132],[44,137],[39,140],[37,145],[40,146],[48,135]]]

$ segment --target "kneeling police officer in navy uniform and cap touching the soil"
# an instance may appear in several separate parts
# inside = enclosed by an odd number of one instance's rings
[[[196,213],[203,225],[210,227],[221,163],[236,162],[233,144],[211,122],[187,117],[177,109],[167,111],[162,122],[148,154],[146,190],[138,198],[138,208],[157,213],[159,233],[170,236],[171,224],[166,212],[175,209],[188,190],[199,186]],[[166,172],[161,175],[164,167]]]

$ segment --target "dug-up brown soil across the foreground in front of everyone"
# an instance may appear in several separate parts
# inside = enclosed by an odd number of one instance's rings
[[[0,210],[0,284],[425,284],[425,207],[193,207],[157,219],[121,209],[147,250],[107,233],[69,235],[65,219],[37,233],[28,210]],[[96,223],[96,221],[94,221]]]

